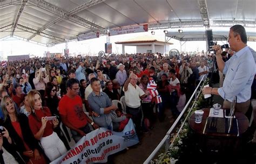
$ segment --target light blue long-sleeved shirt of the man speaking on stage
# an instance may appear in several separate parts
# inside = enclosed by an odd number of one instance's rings
[[[246,46],[225,62],[223,73],[226,75],[219,95],[232,102],[244,103],[251,98],[251,85],[255,74],[255,62],[250,49]]]

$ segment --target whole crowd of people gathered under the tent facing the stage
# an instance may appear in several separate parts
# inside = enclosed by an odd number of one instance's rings
[[[147,53],[7,62],[0,66],[0,160],[47,163],[65,154],[70,147],[60,122],[78,142],[99,127],[123,131],[132,119],[141,141],[156,119],[179,116],[198,82],[217,69],[212,60]],[[161,103],[147,89],[152,81]],[[122,99],[125,109],[112,103]]]

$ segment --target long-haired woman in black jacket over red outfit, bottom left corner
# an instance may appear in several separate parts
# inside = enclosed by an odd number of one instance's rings
[[[25,163],[46,163],[38,141],[33,136],[30,128],[28,117],[23,114],[18,114],[14,101],[10,96],[4,96],[1,102],[4,113],[4,127],[8,130],[14,146],[5,146],[9,153],[11,153],[19,163],[24,163],[17,156],[16,151],[22,156]],[[4,142],[5,144],[6,142]]]

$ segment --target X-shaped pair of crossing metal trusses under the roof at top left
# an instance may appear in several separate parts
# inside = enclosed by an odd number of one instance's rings
[[[89,8],[93,5],[99,4],[103,1],[105,1],[105,0],[90,0],[82,5],[78,6],[77,8],[70,10],[70,11],[65,11],[63,9],[58,8],[58,6],[55,6],[53,4],[50,4],[50,3],[42,1],[42,0],[37,0],[37,2],[29,1],[30,4],[35,5],[38,8],[43,9],[45,11],[51,12],[59,17],[56,18],[55,20],[53,20],[52,22],[46,24],[45,26],[41,27],[36,33],[32,34],[28,38],[28,40],[32,39],[38,33],[41,33],[46,28],[49,28],[53,24],[56,24],[57,22],[59,22],[60,20],[63,20],[63,19],[68,19],[71,22],[79,24],[83,27],[86,27],[93,32],[103,32],[105,30],[105,28],[100,27],[96,24],[93,24],[93,23],[89,22],[88,20],[85,20],[85,19],[75,15],[76,13],[78,13],[86,8]]]

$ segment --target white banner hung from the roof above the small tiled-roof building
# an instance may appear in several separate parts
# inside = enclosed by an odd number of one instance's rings
[[[114,30],[110,30],[109,34],[112,35],[120,35],[120,34],[126,34],[126,33],[136,33],[136,32],[147,32],[148,28],[147,25],[139,25],[139,26],[133,26],[133,27],[124,27],[124,28],[117,28]]]

